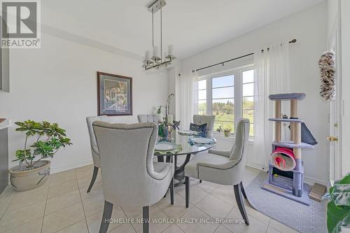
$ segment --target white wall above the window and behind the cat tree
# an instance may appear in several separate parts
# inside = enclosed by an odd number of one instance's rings
[[[246,55],[265,45],[297,39],[297,43],[290,45],[290,90],[307,94],[307,98],[300,102],[300,118],[305,119],[318,145],[314,150],[302,153],[305,176],[321,183],[325,183],[328,174],[328,146],[325,141],[328,105],[318,94],[318,59],[326,49],[327,23],[327,4],[323,2],[181,61],[181,70],[186,72]],[[227,147],[228,142],[219,141],[218,146],[221,145]],[[247,162],[261,166],[257,161],[263,161],[262,156],[249,153]]]

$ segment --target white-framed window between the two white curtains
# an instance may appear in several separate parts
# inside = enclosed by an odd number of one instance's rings
[[[235,134],[238,118],[251,122],[249,135],[254,135],[254,68],[243,66],[223,73],[200,77],[198,114],[215,115],[214,131],[221,127]]]

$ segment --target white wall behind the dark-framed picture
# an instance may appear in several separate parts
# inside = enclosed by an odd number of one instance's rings
[[[48,120],[66,129],[73,146],[52,160],[52,171],[92,163],[85,118],[97,115],[97,71],[133,78],[134,115],[120,122],[137,122],[167,98],[167,74],[146,74],[141,61],[42,34],[41,49],[10,51],[10,92],[0,92],[0,116],[17,120]],[[9,130],[9,157],[22,148],[24,136]],[[9,166],[17,164],[10,162]]]

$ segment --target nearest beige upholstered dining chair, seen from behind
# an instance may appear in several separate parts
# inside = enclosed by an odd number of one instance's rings
[[[113,204],[125,209],[143,207],[144,233],[149,231],[149,206],[164,197],[170,186],[174,204],[174,166],[153,162],[158,136],[155,123],[92,123],[101,157],[104,213],[99,232],[107,232]]]

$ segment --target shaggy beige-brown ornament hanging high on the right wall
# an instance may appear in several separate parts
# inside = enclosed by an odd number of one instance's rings
[[[325,100],[335,99],[335,53],[323,52],[318,65],[320,66],[321,97]]]

